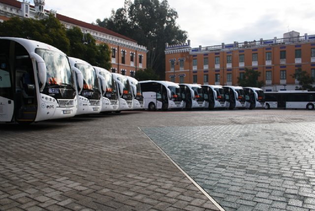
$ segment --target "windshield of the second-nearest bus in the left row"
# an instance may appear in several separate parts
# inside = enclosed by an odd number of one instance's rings
[[[85,64],[75,64],[75,67],[82,72],[83,89],[98,89],[98,79],[92,66]]]

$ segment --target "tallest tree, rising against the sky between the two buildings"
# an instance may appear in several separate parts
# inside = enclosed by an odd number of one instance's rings
[[[187,39],[187,32],[176,24],[177,18],[167,0],[125,0],[123,8],[113,10],[109,18],[97,19],[96,23],[146,46],[147,68],[164,79],[165,43],[177,44]]]

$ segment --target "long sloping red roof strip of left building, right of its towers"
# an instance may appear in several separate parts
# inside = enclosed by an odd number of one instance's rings
[[[86,22],[83,22],[83,21],[79,21],[79,20],[74,19],[74,18],[69,18],[69,17],[61,15],[61,14],[57,14],[57,18],[60,21],[64,21],[64,22],[71,23],[71,24],[74,24],[74,25],[77,25],[77,26],[81,26],[81,27],[85,27],[85,28],[88,28],[88,29],[92,29],[92,30],[95,30],[95,31],[98,31],[98,32],[105,33],[107,35],[117,36],[117,37],[129,40],[129,41],[132,41],[132,42],[137,42],[137,41],[135,41],[135,40],[133,40],[133,39],[127,37],[127,36],[120,35],[120,34],[118,34],[116,32],[113,32],[113,31],[111,31],[109,29],[106,29],[106,28],[103,28],[103,27],[99,27],[99,26],[96,26],[96,25],[93,25],[93,24],[89,24],[89,23],[86,23]]]

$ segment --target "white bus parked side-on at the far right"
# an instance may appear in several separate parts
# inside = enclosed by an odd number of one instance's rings
[[[315,107],[315,92],[308,91],[278,91],[265,92],[265,108],[302,108],[313,110]]]

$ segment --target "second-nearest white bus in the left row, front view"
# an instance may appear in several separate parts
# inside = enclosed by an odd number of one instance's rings
[[[81,59],[69,57],[75,75],[78,110],[76,115],[99,113],[101,110],[101,89],[93,66]]]

